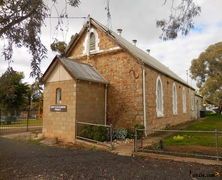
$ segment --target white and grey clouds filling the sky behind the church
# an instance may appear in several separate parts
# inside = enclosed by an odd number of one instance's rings
[[[201,16],[195,19],[197,30],[191,32],[187,37],[179,37],[174,41],[163,42],[158,37],[160,30],[156,28],[156,20],[167,18],[169,15],[169,5],[163,6],[164,0],[112,0],[110,8],[112,14],[113,30],[123,28],[123,36],[131,41],[138,40],[138,46],[145,49],[151,49],[151,55],[160,60],[163,64],[175,71],[179,76],[186,80],[186,70],[189,69],[191,60],[197,57],[210,44],[222,40],[222,1],[197,0],[202,7]],[[59,5],[62,9],[62,4]],[[79,8],[69,8],[70,16],[92,17],[106,25],[105,1],[93,0],[83,1]],[[72,34],[78,32],[84,20],[70,20],[68,33],[54,33],[56,20],[46,20],[46,27],[43,27],[42,39],[49,49],[48,58],[42,63],[44,72],[55,53],[50,50],[50,43],[53,38],[68,41]],[[201,31],[198,31],[201,27]],[[66,29],[66,28],[65,28]],[[0,46],[1,50],[1,46]],[[15,49],[14,64],[15,70],[24,71],[26,81],[29,79],[30,59],[27,49]],[[0,74],[7,68],[7,62],[0,62]],[[193,84],[194,85],[194,84]]]

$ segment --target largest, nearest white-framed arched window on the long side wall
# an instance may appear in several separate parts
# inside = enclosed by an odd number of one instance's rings
[[[156,80],[156,112],[157,117],[163,116],[163,85],[160,77]]]

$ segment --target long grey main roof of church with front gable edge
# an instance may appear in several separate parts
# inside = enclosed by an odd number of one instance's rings
[[[184,84],[185,86],[190,87],[191,89],[194,89],[192,86],[188,85],[182,78],[180,78],[176,73],[174,73],[172,70],[170,70],[168,67],[160,63],[157,59],[150,56],[148,53],[144,52],[142,49],[136,47],[126,39],[124,39],[121,35],[118,35],[114,31],[108,29],[106,26],[102,25],[98,21],[96,21],[93,18],[89,19],[90,23],[92,23],[94,26],[98,27],[99,29],[103,30],[107,35],[109,35],[114,41],[120,45],[123,49],[127,50],[131,55],[133,55],[138,60],[142,61],[145,65],[152,67],[153,69],[171,77],[172,79]],[[87,22],[88,23],[88,22]],[[83,26],[82,30],[79,33],[80,37],[83,32],[85,32],[87,28],[87,23]],[[70,52],[70,49],[76,44],[79,38],[75,38],[68,46],[66,50],[66,54],[68,55]]]

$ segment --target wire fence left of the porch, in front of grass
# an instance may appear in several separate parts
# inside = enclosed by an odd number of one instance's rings
[[[41,130],[42,119],[37,117],[1,116],[0,118],[0,135]]]

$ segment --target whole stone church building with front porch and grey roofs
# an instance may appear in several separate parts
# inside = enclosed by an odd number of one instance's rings
[[[195,89],[139,49],[90,18],[64,56],[42,77],[43,133],[74,142],[76,122],[149,130],[198,117]]]

